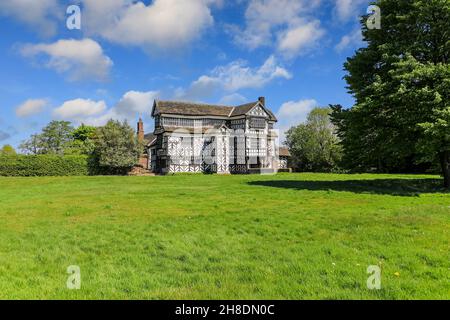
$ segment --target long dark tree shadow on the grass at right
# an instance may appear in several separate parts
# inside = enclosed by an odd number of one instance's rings
[[[249,185],[309,191],[348,191],[413,197],[422,193],[448,193],[440,179],[375,179],[375,180],[275,180],[250,181]]]

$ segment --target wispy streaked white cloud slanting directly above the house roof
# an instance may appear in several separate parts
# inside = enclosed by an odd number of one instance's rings
[[[177,98],[198,99],[217,91],[236,92],[241,89],[258,89],[277,79],[291,79],[292,75],[270,56],[259,68],[251,68],[244,60],[216,67],[209,75],[194,81],[188,90],[180,89]]]

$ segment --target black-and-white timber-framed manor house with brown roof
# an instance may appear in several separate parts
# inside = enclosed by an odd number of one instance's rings
[[[151,115],[155,131],[145,138],[154,173],[287,169],[286,159],[279,158],[277,119],[263,97],[236,107],[157,100]]]

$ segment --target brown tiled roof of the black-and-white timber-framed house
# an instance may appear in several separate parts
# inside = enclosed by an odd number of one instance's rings
[[[257,105],[261,106],[267,112],[271,121],[277,121],[275,115],[265,106],[263,106],[259,101],[231,107],[192,102],[155,100],[155,103],[153,104],[152,116],[154,116],[155,112],[157,111],[158,113],[162,114],[232,118],[247,114]]]

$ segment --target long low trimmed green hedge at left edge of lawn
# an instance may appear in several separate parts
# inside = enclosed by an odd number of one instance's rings
[[[91,164],[86,156],[0,156],[0,176],[86,176],[95,171]]]

